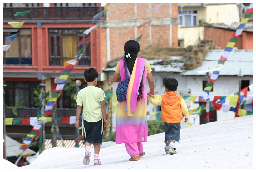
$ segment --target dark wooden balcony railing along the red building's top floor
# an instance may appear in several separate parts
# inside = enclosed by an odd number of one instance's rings
[[[31,10],[28,16],[14,16],[16,12]],[[103,7],[4,7],[3,20],[92,20]]]

